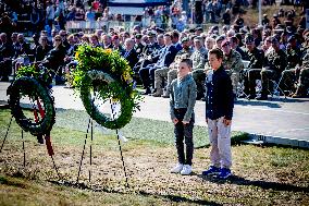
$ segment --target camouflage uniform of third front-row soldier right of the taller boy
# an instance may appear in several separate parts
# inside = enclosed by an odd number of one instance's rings
[[[285,70],[287,65],[286,53],[279,49],[275,51],[272,49],[269,53],[267,53],[264,58],[264,68],[261,71],[261,80],[262,80],[262,93],[261,97],[265,98],[268,92],[270,90],[269,81],[274,80],[277,81],[281,73]]]

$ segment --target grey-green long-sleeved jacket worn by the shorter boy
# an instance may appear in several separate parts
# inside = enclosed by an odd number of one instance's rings
[[[182,80],[176,78],[172,82],[170,86],[170,114],[171,119],[175,119],[174,109],[186,108],[183,121],[189,121],[196,102],[196,83],[191,76],[188,74]]]

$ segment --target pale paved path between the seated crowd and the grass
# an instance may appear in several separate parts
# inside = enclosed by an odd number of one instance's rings
[[[0,83],[0,100],[8,100],[9,83]],[[55,107],[84,110],[73,89],[53,87]],[[205,102],[197,101],[196,123],[205,123]],[[170,121],[169,99],[145,96],[140,111],[134,117]],[[297,138],[309,142],[309,98],[276,98],[268,101],[239,100],[235,104],[232,130],[252,134]]]

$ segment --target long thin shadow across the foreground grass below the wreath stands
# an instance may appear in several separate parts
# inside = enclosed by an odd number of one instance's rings
[[[85,183],[77,183],[77,182],[70,182],[70,181],[49,181],[53,184],[57,185],[63,185],[63,186],[70,186],[74,189],[79,189],[79,190],[89,190],[94,192],[104,192],[104,193],[116,193],[116,194],[135,194],[135,195],[141,195],[145,197],[159,197],[159,198],[165,198],[174,203],[187,203],[187,204],[198,204],[198,205],[220,205],[214,202],[209,202],[205,199],[190,199],[187,197],[178,196],[178,195],[162,195],[162,194],[156,194],[156,193],[149,193],[146,191],[132,191],[132,192],[122,192],[109,187],[101,187],[101,186],[89,186],[86,185]],[[127,187],[129,191],[129,186]]]

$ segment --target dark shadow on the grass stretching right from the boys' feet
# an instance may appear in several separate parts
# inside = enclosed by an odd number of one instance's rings
[[[271,189],[274,191],[308,192],[308,187],[304,187],[304,186],[296,186],[296,185],[279,183],[279,182],[267,182],[267,181],[261,181],[261,180],[256,180],[256,181],[246,180],[245,178],[242,178],[238,175],[231,175],[226,180],[219,180],[215,177],[206,177],[201,174],[197,174],[197,177],[206,181],[217,183],[217,184],[230,183],[230,184],[237,184],[237,185],[252,185],[252,186],[258,186],[264,190]]]

